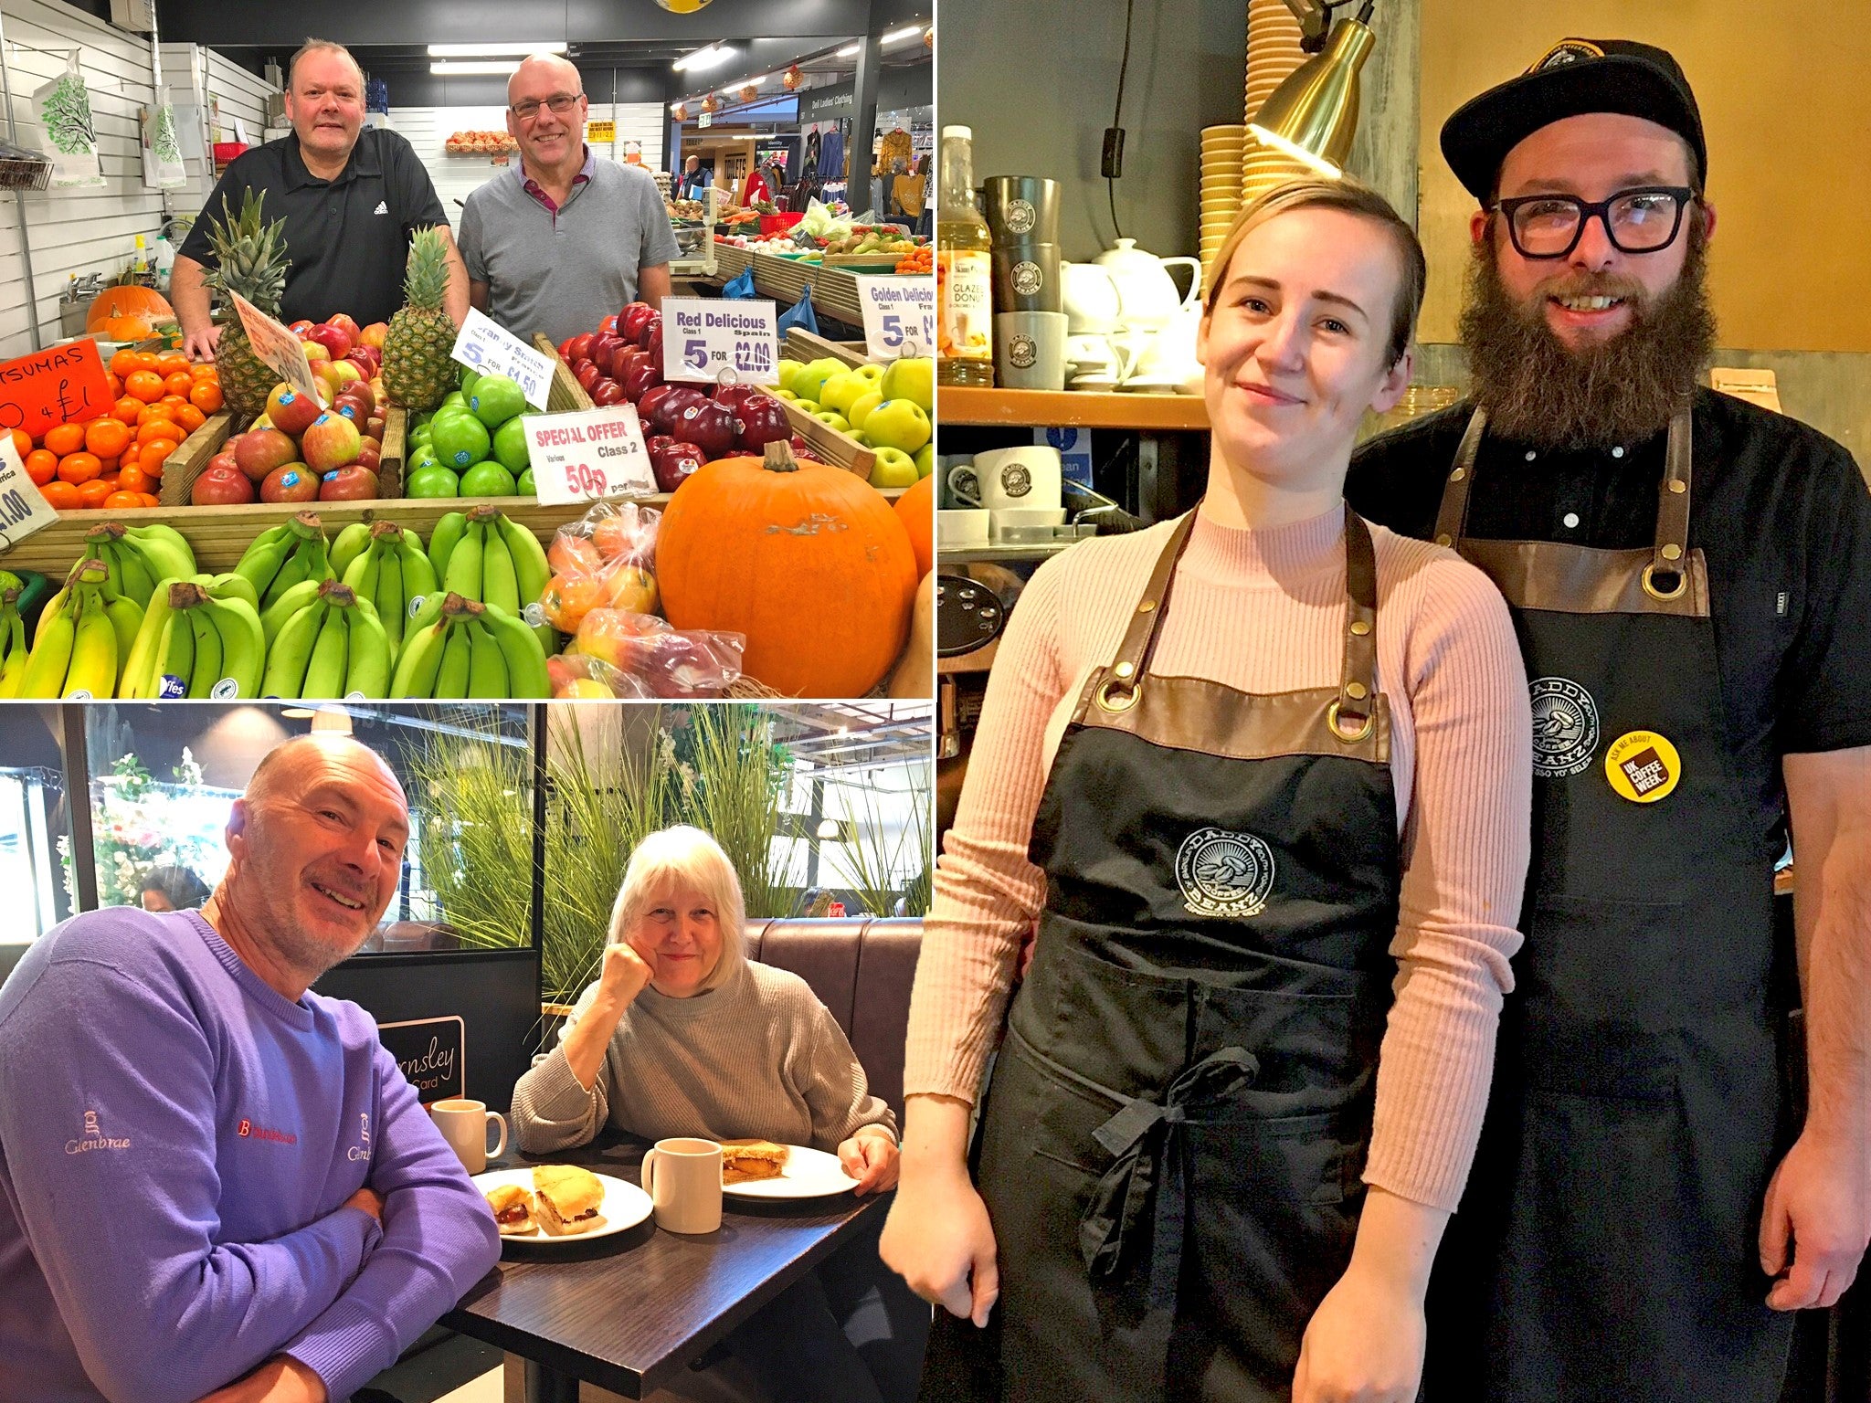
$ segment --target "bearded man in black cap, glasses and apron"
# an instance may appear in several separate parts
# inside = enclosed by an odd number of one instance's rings
[[[1471,398],[1368,443],[1347,498],[1501,586],[1536,782],[1426,1397],[1777,1403],[1787,1311],[1835,1302],[1871,1235],[1871,494],[1841,445],[1697,387],[1716,211],[1669,54],[1568,39],[1443,153],[1482,204]]]

